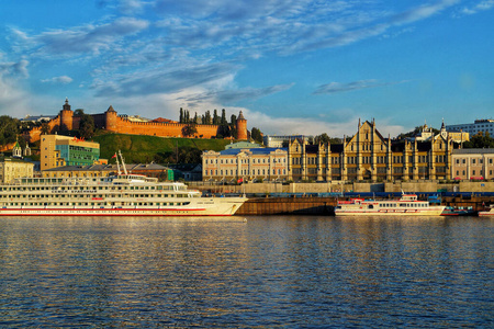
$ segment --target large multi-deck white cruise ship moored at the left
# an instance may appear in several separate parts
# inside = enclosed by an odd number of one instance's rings
[[[22,178],[0,185],[0,216],[231,216],[247,200],[202,197],[183,183],[123,169],[108,178]]]

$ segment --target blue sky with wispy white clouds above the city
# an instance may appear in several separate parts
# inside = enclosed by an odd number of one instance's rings
[[[0,115],[243,111],[268,135],[493,118],[494,0],[1,0]]]

